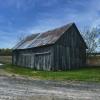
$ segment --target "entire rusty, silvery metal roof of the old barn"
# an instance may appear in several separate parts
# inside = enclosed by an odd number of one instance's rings
[[[74,23],[69,23],[60,28],[56,28],[44,33],[32,34],[31,36],[28,36],[24,40],[19,42],[13,49],[28,49],[54,44],[61,37],[61,35],[63,35],[64,32],[67,31],[73,24]]]

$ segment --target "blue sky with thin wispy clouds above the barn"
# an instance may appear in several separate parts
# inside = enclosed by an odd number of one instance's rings
[[[80,32],[100,27],[100,0],[0,0],[0,48],[70,22]]]

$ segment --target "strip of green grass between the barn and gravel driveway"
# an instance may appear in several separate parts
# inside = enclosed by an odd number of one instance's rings
[[[100,67],[58,72],[34,71],[33,69],[22,68],[14,65],[5,65],[4,69],[9,73],[31,76],[39,79],[100,82]]]

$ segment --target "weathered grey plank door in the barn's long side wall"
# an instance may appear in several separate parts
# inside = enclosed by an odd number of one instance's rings
[[[35,54],[35,68],[38,70],[50,70],[51,55],[50,53],[37,53]]]

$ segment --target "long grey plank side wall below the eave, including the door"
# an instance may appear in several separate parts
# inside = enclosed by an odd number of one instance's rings
[[[37,70],[51,70],[52,51],[51,46],[13,51],[13,64]]]

